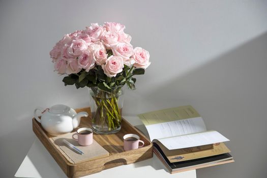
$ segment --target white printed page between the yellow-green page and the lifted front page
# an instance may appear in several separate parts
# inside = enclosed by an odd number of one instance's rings
[[[150,140],[206,131],[202,117],[188,118],[146,126]]]

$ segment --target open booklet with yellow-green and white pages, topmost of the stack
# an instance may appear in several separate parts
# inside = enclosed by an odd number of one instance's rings
[[[139,114],[151,141],[169,150],[229,141],[217,131],[207,131],[202,117],[192,106]]]

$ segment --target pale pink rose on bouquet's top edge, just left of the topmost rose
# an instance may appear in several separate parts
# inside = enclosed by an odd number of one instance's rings
[[[106,29],[103,26],[99,26],[98,23],[91,23],[91,26],[86,27],[86,34],[88,34],[92,41],[99,41]]]

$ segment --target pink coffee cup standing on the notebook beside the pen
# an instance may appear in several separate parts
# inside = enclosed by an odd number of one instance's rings
[[[77,135],[78,138],[74,136]],[[78,143],[82,146],[87,146],[93,143],[93,130],[91,128],[80,128],[75,134],[72,135],[74,140],[78,140]]]

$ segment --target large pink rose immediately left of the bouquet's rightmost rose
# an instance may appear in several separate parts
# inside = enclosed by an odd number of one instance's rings
[[[111,47],[114,56],[123,57],[124,64],[127,66],[131,66],[134,64],[134,60],[130,58],[134,51],[133,46],[127,43],[118,43],[115,46]]]

